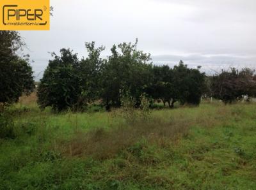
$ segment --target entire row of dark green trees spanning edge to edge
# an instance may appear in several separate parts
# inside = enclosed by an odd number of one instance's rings
[[[21,57],[24,41],[15,31],[0,31],[0,105],[10,105],[35,85],[28,57]],[[150,54],[137,50],[137,41],[113,45],[111,55],[102,59],[104,47],[86,43],[88,56],[79,60],[70,49],[61,49],[44,72],[37,89],[38,105],[56,111],[83,110],[99,101],[109,110],[129,99],[135,107],[146,98],[150,105],[159,99],[170,107],[199,105],[203,96],[232,103],[255,96],[256,77],[252,69],[222,71],[207,77],[200,67],[191,69],[182,61],[177,66],[155,66]]]

